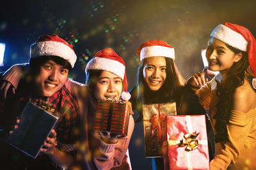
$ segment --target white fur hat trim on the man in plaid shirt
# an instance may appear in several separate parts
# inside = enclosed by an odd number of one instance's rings
[[[55,55],[67,60],[72,67],[76,62],[76,53],[69,46],[58,41],[40,41],[30,46],[30,57]]]

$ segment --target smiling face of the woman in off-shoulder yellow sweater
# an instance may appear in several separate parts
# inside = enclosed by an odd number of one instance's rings
[[[205,55],[209,62],[209,69],[220,71],[221,74],[225,74],[225,71],[242,57],[241,53],[232,52],[225,43],[216,38],[210,39]]]

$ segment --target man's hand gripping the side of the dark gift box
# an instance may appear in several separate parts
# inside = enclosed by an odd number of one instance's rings
[[[44,141],[44,146],[40,149],[41,152],[45,154],[53,154],[54,148],[56,146],[56,131],[52,130],[49,137]]]

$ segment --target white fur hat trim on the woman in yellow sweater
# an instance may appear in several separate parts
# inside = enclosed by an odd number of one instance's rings
[[[248,41],[244,39],[244,37],[238,32],[228,28],[225,25],[218,25],[212,32],[211,36],[217,39],[220,39],[224,43],[227,43],[234,48],[242,50],[244,52],[247,51]]]

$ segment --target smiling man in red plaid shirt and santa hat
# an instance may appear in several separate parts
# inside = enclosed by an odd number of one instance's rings
[[[70,166],[76,153],[74,144],[79,139],[79,113],[76,99],[63,85],[76,58],[72,45],[56,35],[40,36],[31,45],[29,66],[24,67],[28,71],[24,71],[24,76],[17,83],[15,94],[9,90],[0,99],[0,129],[4,129],[0,136],[1,169],[56,169],[57,166]],[[52,130],[45,140],[36,159],[4,142],[30,100],[50,104],[62,115],[56,130]]]

